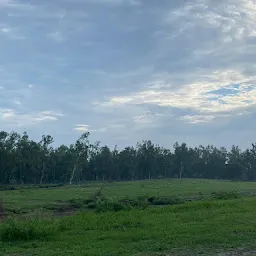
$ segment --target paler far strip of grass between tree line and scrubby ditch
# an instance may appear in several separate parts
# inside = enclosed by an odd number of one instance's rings
[[[88,183],[79,186],[64,186],[54,188],[19,189],[0,191],[0,198],[8,209],[17,212],[39,211],[58,201],[71,199],[87,199],[97,189],[100,183]],[[254,192],[256,184],[253,182],[231,182],[218,180],[190,180],[170,179],[135,182],[114,182],[104,186],[104,194],[108,198],[135,198],[139,196],[193,196],[211,194],[212,192]]]

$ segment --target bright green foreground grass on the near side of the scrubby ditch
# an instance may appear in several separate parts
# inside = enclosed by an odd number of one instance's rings
[[[256,199],[188,202],[183,205],[38,221],[54,230],[45,240],[0,242],[2,255],[149,255],[154,252],[210,252],[256,248]],[[18,228],[25,222],[17,224]],[[36,224],[34,221],[33,225]],[[5,224],[8,225],[8,224]],[[51,227],[52,225],[52,227]],[[6,229],[6,227],[3,229]],[[37,229],[40,230],[40,229]],[[0,237],[2,236],[0,228]],[[187,254],[187,255],[191,255]],[[167,255],[167,254],[166,254]]]

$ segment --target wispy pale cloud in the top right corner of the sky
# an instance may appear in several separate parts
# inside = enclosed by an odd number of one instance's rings
[[[189,28],[213,28],[221,31],[222,40],[243,40],[256,35],[255,0],[193,1],[182,8],[171,10],[164,21],[171,24],[177,20],[181,27],[178,34]]]

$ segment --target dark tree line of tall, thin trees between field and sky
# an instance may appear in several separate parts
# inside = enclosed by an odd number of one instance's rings
[[[214,146],[189,147],[176,142],[166,149],[150,140],[111,150],[90,143],[89,133],[74,144],[53,147],[43,135],[0,132],[0,183],[51,184],[128,181],[158,178],[206,178],[256,181],[256,144],[246,150]]]

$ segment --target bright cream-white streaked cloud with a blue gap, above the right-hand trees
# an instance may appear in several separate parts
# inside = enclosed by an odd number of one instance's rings
[[[255,83],[256,76],[246,76],[237,70],[220,70],[202,75],[196,81],[180,87],[172,88],[172,81],[169,81],[164,89],[160,87],[112,97],[103,106],[153,104],[218,114],[255,106],[256,86],[252,86]],[[239,85],[233,89],[234,94],[221,92],[225,89],[232,90],[234,85]],[[211,93],[215,90],[220,92]]]

